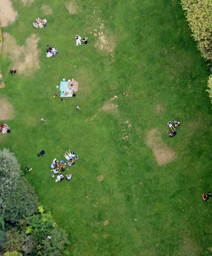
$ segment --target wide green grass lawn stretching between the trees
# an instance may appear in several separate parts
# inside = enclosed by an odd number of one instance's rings
[[[69,233],[71,255],[206,255],[212,201],[201,194],[212,189],[209,69],[180,1],[75,0],[76,13],[69,14],[66,1],[46,0],[53,12],[46,16],[42,3],[13,1],[18,19],[2,29],[3,40],[7,32],[18,45],[33,33],[40,38],[40,70],[11,75],[11,60],[1,58],[0,99],[14,105],[15,117],[6,121],[11,134],[0,137],[0,148],[33,168],[26,178]],[[46,17],[46,28],[32,27],[36,17]],[[98,48],[101,31],[105,50]],[[76,47],[76,34],[89,43]],[[55,59],[46,58],[47,44],[57,45]],[[65,103],[53,99],[63,78],[79,81],[78,95]],[[106,102],[117,108],[103,111]],[[181,125],[170,139],[166,123],[175,119]],[[147,145],[152,129],[175,152],[170,163],[158,165]],[[55,183],[50,165],[68,149],[80,160],[64,173],[72,173],[70,182]],[[41,150],[45,157],[38,158]]]

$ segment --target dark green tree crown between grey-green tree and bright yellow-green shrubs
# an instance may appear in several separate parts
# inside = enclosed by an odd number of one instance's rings
[[[6,221],[17,222],[24,216],[33,215],[37,212],[38,197],[25,177],[17,182],[16,189],[6,200],[4,217]]]

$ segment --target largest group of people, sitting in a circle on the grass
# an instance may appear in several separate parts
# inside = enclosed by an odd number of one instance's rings
[[[74,160],[79,160],[79,156],[75,155],[75,153],[70,150],[66,151],[63,154],[63,156],[66,158],[66,163],[68,163],[68,166],[74,165],[75,164]],[[63,160],[59,162],[56,158],[54,158],[51,164],[51,172],[54,172],[54,173],[52,173],[51,176],[54,177],[54,174],[57,174],[57,178],[55,182],[64,180],[64,176],[61,172],[64,172],[65,170],[69,170],[69,169],[65,169],[66,163]],[[72,174],[66,175],[66,180],[71,180],[71,178],[72,178]]]

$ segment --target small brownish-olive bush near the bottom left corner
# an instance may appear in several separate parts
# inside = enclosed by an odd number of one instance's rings
[[[20,231],[9,230],[6,232],[6,242],[3,246],[4,251],[14,251],[17,250],[21,252],[23,250],[24,237]]]

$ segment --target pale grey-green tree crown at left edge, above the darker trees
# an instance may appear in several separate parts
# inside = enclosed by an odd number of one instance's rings
[[[20,177],[20,166],[13,153],[4,148],[0,151],[0,215],[6,208],[6,200],[16,189],[18,177]]]

